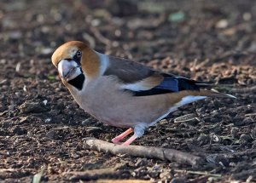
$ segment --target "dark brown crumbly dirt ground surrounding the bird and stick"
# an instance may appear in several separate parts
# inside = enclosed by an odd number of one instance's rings
[[[75,171],[89,174],[80,182],[256,181],[255,19],[253,0],[2,0],[0,182],[79,181]],[[236,95],[183,106],[134,143],[189,152],[206,163],[114,156],[85,146],[88,138],[111,141],[125,129],[83,112],[61,83],[50,57],[70,40]],[[187,122],[177,120],[188,114]]]

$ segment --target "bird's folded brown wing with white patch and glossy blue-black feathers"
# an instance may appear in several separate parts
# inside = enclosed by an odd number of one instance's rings
[[[154,71],[137,62],[111,56],[109,56],[109,64],[104,76],[117,77],[122,83],[121,89],[130,90],[136,96],[199,90],[201,85],[205,84]]]

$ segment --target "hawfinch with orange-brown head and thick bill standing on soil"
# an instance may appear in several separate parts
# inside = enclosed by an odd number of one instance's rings
[[[84,112],[102,123],[127,128],[112,139],[118,145],[130,145],[148,127],[180,106],[207,97],[236,98],[205,89],[208,84],[204,82],[101,54],[80,41],[62,44],[51,60],[62,83]]]

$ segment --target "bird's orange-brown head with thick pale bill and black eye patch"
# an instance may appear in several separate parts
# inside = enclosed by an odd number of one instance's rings
[[[96,52],[79,41],[62,44],[52,54],[51,60],[64,84],[82,75],[88,79],[96,77],[100,67]]]

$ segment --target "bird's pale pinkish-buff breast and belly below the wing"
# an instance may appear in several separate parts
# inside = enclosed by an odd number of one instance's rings
[[[169,109],[163,105],[164,95],[132,96],[130,92],[119,89],[119,83],[113,77],[101,77],[93,83],[86,83],[81,92],[71,92],[85,112],[117,127],[134,127],[137,123],[149,125]]]

